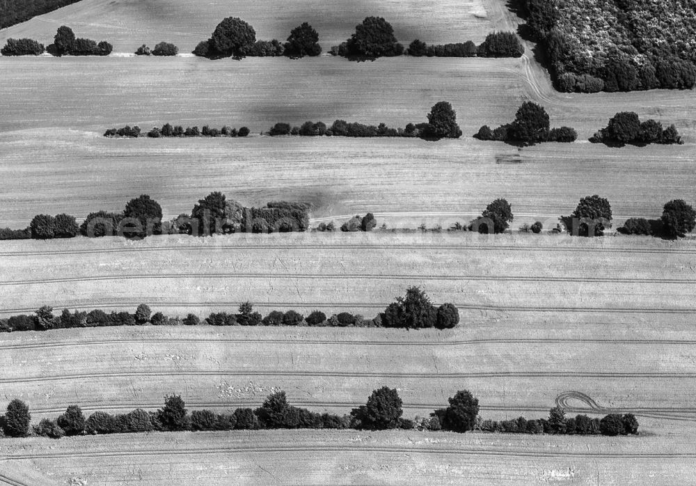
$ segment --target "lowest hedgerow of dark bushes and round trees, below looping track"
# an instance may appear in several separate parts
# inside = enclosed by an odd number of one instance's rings
[[[471,430],[516,434],[635,435],[639,423],[633,414],[608,414],[603,418],[587,415],[566,418],[564,409],[554,407],[548,418],[509,421],[482,420],[479,401],[468,390],[460,390],[448,399],[446,408],[436,409],[428,417],[404,418],[403,402],[396,389],[382,386],[372,391],[365,405],[348,415],[319,414],[287,402],[285,391],[268,395],[256,409],[239,407],[231,414],[216,414],[209,409],[189,413],[180,395],[167,395],[164,407],[157,411],[135,409],[128,414],[112,415],[95,411],[86,417],[78,405],[70,405],[56,419],[43,418],[31,425],[29,406],[19,399],[9,402],[0,417],[0,432],[5,437],[40,436],[60,439],[64,436],[126,434],[137,432],[179,432],[206,430],[275,429],[354,429],[354,430],[431,430],[464,433]]]

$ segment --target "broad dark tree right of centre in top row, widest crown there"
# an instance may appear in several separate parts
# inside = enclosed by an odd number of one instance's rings
[[[355,27],[355,33],[347,41],[349,56],[378,58],[400,56],[404,46],[397,42],[394,29],[383,17],[365,17]]]

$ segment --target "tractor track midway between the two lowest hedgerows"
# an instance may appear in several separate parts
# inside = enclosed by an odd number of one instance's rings
[[[580,371],[489,371],[480,373],[360,373],[328,371],[278,371],[278,370],[177,370],[130,371],[113,373],[79,373],[35,377],[1,378],[0,384],[58,382],[105,378],[156,378],[156,377],[324,377],[324,378],[392,378],[392,379],[480,379],[480,378],[650,378],[696,379],[696,373],[628,373],[628,372],[580,372]]]

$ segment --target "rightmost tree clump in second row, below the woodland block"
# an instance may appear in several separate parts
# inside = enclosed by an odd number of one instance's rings
[[[683,143],[674,125],[663,128],[662,123],[653,119],[641,122],[638,114],[633,111],[616,113],[609,120],[607,127],[596,132],[590,141],[619,147],[626,143],[635,146],[646,146],[649,143]]]

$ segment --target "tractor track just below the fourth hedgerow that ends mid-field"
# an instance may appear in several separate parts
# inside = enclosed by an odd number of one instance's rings
[[[0,341],[1,343],[1,341]],[[609,345],[696,345],[696,340],[669,339],[585,339],[585,338],[511,338],[511,339],[468,339],[452,341],[383,341],[383,340],[328,340],[328,339],[235,339],[235,338],[124,338],[93,341],[57,341],[53,343],[0,344],[0,350],[31,350],[51,347],[91,347],[121,344],[187,344],[187,343],[226,343],[226,344],[287,344],[287,345],[353,345],[353,346],[474,346],[489,344],[609,344]]]

